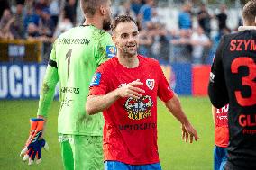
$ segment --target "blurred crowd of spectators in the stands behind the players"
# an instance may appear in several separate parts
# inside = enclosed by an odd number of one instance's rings
[[[51,44],[60,33],[83,22],[83,16],[78,13],[78,0],[11,2],[0,0],[0,40],[41,40],[45,58],[49,57]],[[183,4],[178,12],[178,28],[170,30],[165,22],[160,22],[159,9],[154,0],[127,0],[115,5],[113,14],[131,15],[140,28],[139,53],[163,64],[209,64],[221,36],[231,32],[226,24],[228,16],[224,4],[217,14],[210,14],[205,4],[197,10],[192,10],[192,4]],[[215,35],[211,27],[213,19],[218,22]]]

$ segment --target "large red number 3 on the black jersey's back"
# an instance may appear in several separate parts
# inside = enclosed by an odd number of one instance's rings
[[[256,64],[252,58],[242,57],[235,58],[231,64],[231,72],[238,73],[239,67],[248,67],[248,75],[242,76],[242,85],[249,86],[251,88],[251,96],[243,97],[240,90],[235,91],[235,97],[237,102],[242,106],[251,106],[256,104]]]

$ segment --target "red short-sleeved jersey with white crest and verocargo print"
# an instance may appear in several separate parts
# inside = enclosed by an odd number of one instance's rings
[[[90,95],[107,94],[136,79],[145,90],[140,99],[120,98],[103,114],[105,117],[103,149],[105,160],[130,165],[159,162],[157,145],[157,97],[164,102],[173,92],[158,61],[138,56],[139,67],[123,67],[111,58],[97,68]]]

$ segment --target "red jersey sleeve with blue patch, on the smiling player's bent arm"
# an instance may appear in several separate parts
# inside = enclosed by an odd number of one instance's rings
[[[92,78],[92,81],[89,86],[89,95],[103,95],[106,94],[107,82],[104,72],[104,67],[100,66],[96,69],[95,75]]]

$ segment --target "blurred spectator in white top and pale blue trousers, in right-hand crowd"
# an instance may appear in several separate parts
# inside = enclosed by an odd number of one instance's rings
[[[197,31],[193,32],[191,36],[192,44],[192,63],[203,64],[203,53],[206,47],[210,47],[211,41],[206,36],[204,30],[201,27],[197,28]]]

